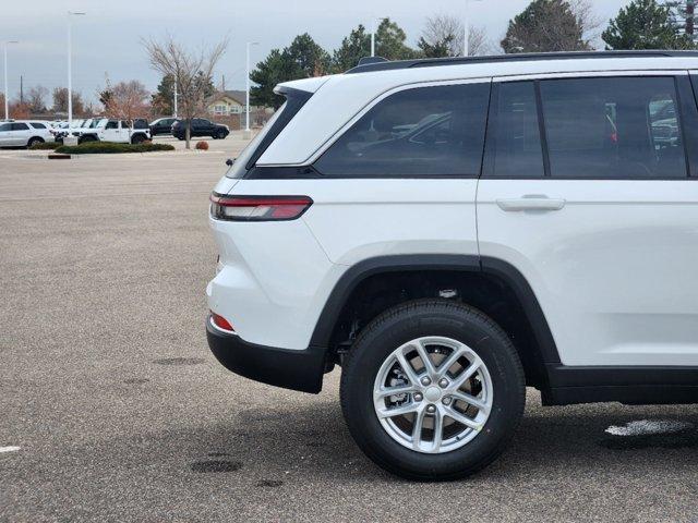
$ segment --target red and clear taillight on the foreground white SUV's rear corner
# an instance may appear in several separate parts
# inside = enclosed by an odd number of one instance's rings
[[[210,195],[210,216],[232,221],[294,220],[313,205],[309,196]]]

